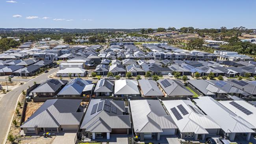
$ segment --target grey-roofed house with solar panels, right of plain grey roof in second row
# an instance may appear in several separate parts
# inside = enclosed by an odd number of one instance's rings
[[[160,79],[157,81],[158,87],[165,97],[193,97],[185,84],[176,79]]]

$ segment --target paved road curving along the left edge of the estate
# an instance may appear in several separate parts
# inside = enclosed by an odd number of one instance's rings
[[[37,83],[41,83],[48,79],[48,76],[52,74],[53,72],[56,72],[58,68],[53,68],[49,70],[48,73],[43,73],[40,76],[30,79],[27,83],[24,85],[21,85],[20,87],[11,90],[8,92],[1,100],[0,100],[0,143],[2,144],[4,141],[4,138],[6,136],[6,132],[9,128],[9,123],[11,121],[11,117],[15,111],[15,106],[17,103],[17,100],[19,98],[19,95],[21,94],[21,91],[24,89],[28,89],[28,86],[32,86],[33,82],[36,81]],[[13,79],[14,80],[14,79]]]

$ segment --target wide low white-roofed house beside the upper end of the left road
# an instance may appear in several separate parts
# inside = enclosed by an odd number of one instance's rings
[[[86,74],[86,70],[82,68],[65,68],[63,70],[59,70],[57,73],[57,77],[69,77],[71,74],[71,77],[84,77]]]

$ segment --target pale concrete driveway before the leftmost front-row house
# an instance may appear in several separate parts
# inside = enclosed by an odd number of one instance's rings
[[[74,138],[76,136],[75,132],[60,132],[54,138],[52,144],[74,144]]]

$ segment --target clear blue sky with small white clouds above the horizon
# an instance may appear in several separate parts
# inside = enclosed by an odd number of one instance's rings
[[[256,28],[256,0],[0,0],[0,28]]]

